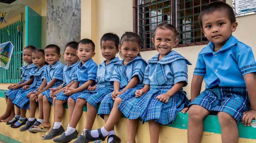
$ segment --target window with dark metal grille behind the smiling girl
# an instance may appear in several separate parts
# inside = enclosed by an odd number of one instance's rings
[[[180,33],[176,47],[207,44],[209,41],[201,32],[198,16],[214,1],[219,0],[133,0],[133,27],[140,36],[141,51],[155,50],[151,38],[155,27],[162,22],[176,25]]]

